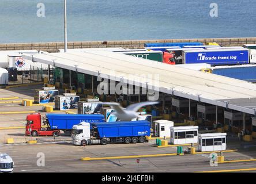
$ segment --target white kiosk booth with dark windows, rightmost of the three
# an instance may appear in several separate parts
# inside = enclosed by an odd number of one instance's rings
[[[227,133],[198,133],[199,151],[226,150]]]

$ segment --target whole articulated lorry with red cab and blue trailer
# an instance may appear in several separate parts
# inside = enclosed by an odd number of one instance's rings
[[[42,120],[43,119],[43,120]],[[104,122],[102,114],[29,114],[25,135],[29,136],[59,136],[61,131],[71,132],[73,125],[80,122]]]

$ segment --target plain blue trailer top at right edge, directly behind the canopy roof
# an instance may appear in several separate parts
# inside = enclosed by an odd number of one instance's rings
[[[213,68],[212,73],[243,81],[256,82],[256,65],[251,67]]]

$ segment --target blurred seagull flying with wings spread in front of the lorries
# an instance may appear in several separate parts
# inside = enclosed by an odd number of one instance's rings
[[[138,117],[137,110],[139,110],[143,106],[159,104],[159,102],[156,102],[156,101],[140,102],[137,104],[129,105],[127,106],[126,109],[123,109],[123,107],[116,102],[103,102],[102,104],[109,105],[111,106],[111,108],[115,109],[115,113],[113,114],[116,117],[118,117],[119,120],[131,121],[133,118]]]

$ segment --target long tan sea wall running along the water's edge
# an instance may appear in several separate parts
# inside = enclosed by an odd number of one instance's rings
[[[102,47],[125,47],[143,48],[145,43],[173,43],[173,42],[194,42],[203,44],[216,42],[223,46],[236,46],[243,44],[256,44],[256,37],[248,38],[223,38],[223,39],[165,39],[165,40],[123,40],[123,41],[76,41],[67,43],[67,48],[102,48]],[[0,51],[36,49],[40,51],[57,52],[63,49],[64,43],[15,43],[0,44]]]

